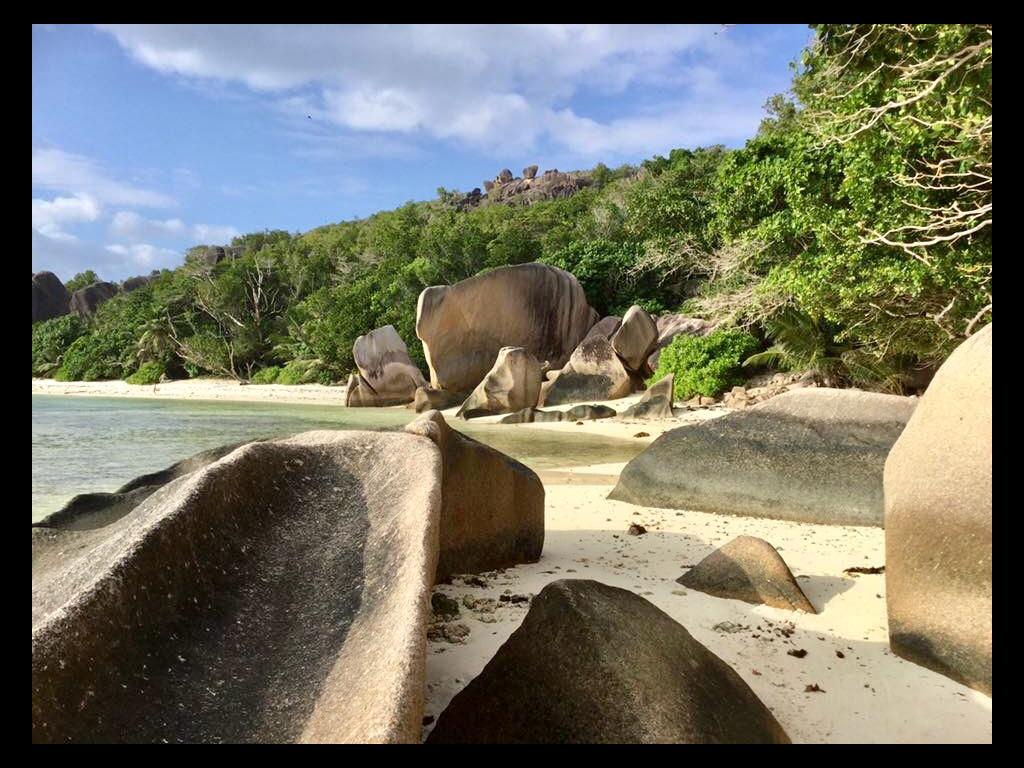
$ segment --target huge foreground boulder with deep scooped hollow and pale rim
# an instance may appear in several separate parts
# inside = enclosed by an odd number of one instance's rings
[[[427,440],[309,432],[34,527],[33,741],[419,741],[440,492]]]

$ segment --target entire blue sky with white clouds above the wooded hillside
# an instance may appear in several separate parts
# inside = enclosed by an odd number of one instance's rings
[[[739,146],[804,26],[35,26],[32,268],[106,280],[508,167]]]

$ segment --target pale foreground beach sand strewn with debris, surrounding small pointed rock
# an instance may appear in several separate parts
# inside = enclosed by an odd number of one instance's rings
[[[992,702],[984,694],[905,662],[889,650],[885,575],[844,568],[885,562],[881,528],[679,512],[608,501],[623,464],[543,473],[547,489],[544,556],[468,586],[437,589],[498,599],[537,594],[557,579],[593,579],[632,590],[682,624],[732,666],[768,706],[794,742],[990,742]],[[648,532],[630,536],[631,522]],[[771,542],[817,615],[723,600],[675,582],[716,547],[741,534]],[[493,613],[462,607],[467,642],[429,642],[425,713],[438,716],[519,626],[528,604],[501,603]],[[785,637],[781,630],[791,629]],[[717,627],[716,627],[717,626]],[[776,632],[779,630],[779,632]],[[787,650],[804,649],[797,658]],[[843,654],[843,657],[839,656]],[[806,692],[808,685],[821,692]],[[424,728],[424,737],[432,725]]]

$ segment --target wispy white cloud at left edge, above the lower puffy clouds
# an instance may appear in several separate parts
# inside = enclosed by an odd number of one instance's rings
[[[173,198],[109,176],[82,155],[53,147],[32,147],[32,185],[42,189],[88,196],[109,205],[139,208],[173,208]]]

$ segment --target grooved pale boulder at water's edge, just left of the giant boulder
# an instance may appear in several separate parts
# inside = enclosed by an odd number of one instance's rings
[[[393,326],[360,336],[352,345],[358,377],[349,379],[345,404],[402,406],[412,402],[419,387],[426,386],[420,370],[409,357],[409,348]]]

